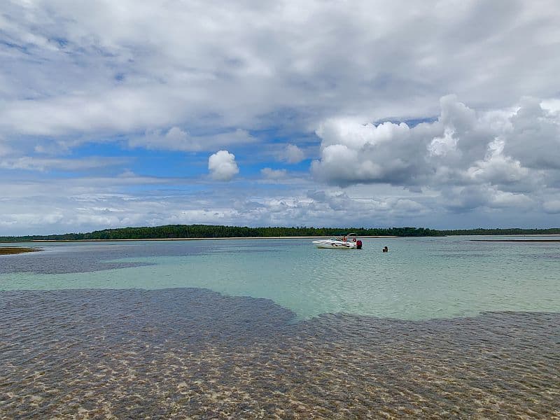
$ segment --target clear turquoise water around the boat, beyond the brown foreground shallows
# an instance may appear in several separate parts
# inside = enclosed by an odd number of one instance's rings
[[[361,251],[311,239],[41,243],[41,253],[0,257],[0,290],[207,288],[299,319],[560,311],[560,242],[470,239],[489,237],[363,239]]]

